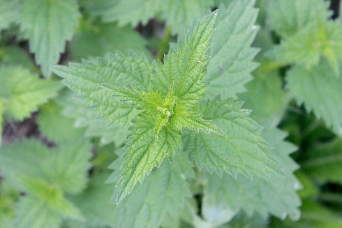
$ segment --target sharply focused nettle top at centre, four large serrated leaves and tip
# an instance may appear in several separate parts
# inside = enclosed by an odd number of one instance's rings
[[[249,178],[286,176],[268,153],[272,147],[259,136],[261,127],[248,117],[249,110],[240,109],[241,103],[221,99],[219,94],[201,102],[210,86],[205,81],[210,59],[206,52],[217,15],[218,10],[198,23],[193,33],[179,41],[177,50],[170,49],[163,63],[158,60],[151,65],[143,55],[117,53],[109,59],[98,58],[97,63],[84,60],[53,67],[64,84],[87,99],[102,118],[113,124],[133,123],[124,147],[117,203],[132,192],[137,181],[143,183],[153,167],[166,157],[172,162],[183,151],[200,169],[206,166],[221,176],[223,172],[235,177],[240,172]],[[224,153],[230,148],[242,152],[232,163],[229,153]]]

